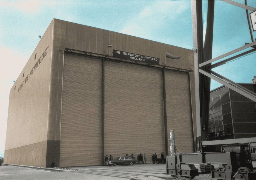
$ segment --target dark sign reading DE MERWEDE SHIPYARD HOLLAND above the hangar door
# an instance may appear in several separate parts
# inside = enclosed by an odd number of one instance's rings
[[[124,51],[118,51],[118,50],[113,50],[113,56],[117,58],[123,58],[123,59],[129,59],[129,60],[134,60],[138,62],[144,62],[144,63],[149,63],[149,64],[157,64],[159,65],[160,58],[155,58],[151,56],[145,56],[145,55],[140,55],[140,54],[134,54],[130,52],[124,52]]]

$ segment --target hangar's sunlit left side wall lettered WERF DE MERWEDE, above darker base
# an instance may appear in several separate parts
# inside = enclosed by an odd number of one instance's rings
[[[47,140],[52,27],[10,90],[5,151]]]

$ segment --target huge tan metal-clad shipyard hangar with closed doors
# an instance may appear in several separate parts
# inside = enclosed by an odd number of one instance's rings
[[[166,52],[177,59],[166,59]],[[193,51],[53,19],[10,90],[6,164],[193,152]]]

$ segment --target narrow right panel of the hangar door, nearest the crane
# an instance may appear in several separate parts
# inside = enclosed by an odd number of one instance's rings
[[[167,130],[175,131],[178,152],[193,152],[189,76],[165,71]]]

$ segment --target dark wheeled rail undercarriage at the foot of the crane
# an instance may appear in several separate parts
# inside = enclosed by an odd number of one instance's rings
[[[211,171],[218,180],[255,180],[249,145],[224,145],[221,152],[175,153],[175,134],[170,131],[170,156],[166,157],[166,174],[177,179],[193,179],[198,176],[194,164],[214,163],[220,166]],[[200,142],[200,145],[202,143]]]

